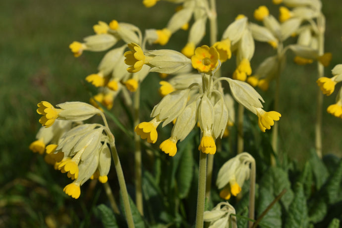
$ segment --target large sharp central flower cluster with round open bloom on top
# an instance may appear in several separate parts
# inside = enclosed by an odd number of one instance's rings
[[[259,127],[263,132],[281,116],[277,112],[265,112],[260,102],[262,97],[249,84],[226,77],[213,79],[221,66],[219,53],[214,47],[196,48],[191,60],[171,50],[142,53],[136,44],[129,45],[129,48],[131,51],[124,54],[126,64],[130,65],[128,71],[141,67],[138,62],[142,61],[151,67],[151,71],[160,73],[173,73],[191,64],[201,75],[201,83],[194,82],[187,88],[169,93],[154,107],[151,113],[153,119],[135,127],[135,132],[142,139],[155,143],[158,125],[163,122],[162,126],[165,126],[175,119],[171,137],[160,144],[160,149],[170,156],[176,154],[176,143],[183,140],[197,122],[202,135],[198,149],[206,154],[215,154],[215,139],[223,136],[228,122],[228,108],[219,88],[222,80],[229,83],[234,99],[259,117]]]

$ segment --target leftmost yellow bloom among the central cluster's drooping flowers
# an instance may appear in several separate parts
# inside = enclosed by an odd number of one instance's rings
[[[155,143],[158,138],[157,127],[161,123],[157,118],[150,122],[141,122],[135,126],[134,131],[140,135],[142,139],[147,139],[149,143]]]

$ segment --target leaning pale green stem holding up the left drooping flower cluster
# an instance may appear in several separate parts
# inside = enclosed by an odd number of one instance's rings
[[[113,136],[113,138],[114,138],[114,136]],[[117,155],[114,140],[113,140],[113,142],[111,142],[111,151],[112,151],[112,156],[113,156],[113,160],[114,160],[117,179],[118,179],[119,185],[120,185],[120,191],[121,191],[121,195],[122,195],[123,207],[125,210],[127,225],[128,225],[128,228],[134,228],[134,222],[133,222],[131,207],[129,205],[128,192],[127,192],[127,188],[126,188],[125,178],[123,176],[123,171],[121,168],[119,156]]]

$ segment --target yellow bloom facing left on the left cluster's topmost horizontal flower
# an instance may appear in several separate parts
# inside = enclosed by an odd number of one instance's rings
[[[55,120],[58,117],[58,113],[61,110],[55,109],[54,106],[52,106],[47,101],[42,101],[38,103],[37,106],[37,113],[43,115],[42,117],[40,117],[39,122],[45,127],[52,126],[52,124],[54,124]]]

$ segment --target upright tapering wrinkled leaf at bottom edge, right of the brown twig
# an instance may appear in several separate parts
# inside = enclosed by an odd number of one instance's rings
[[[288,208],[285,228],[307,228],[309,225],[308,209],[302,183],[297,183],[292,203]]]

